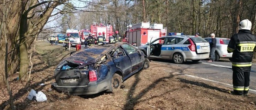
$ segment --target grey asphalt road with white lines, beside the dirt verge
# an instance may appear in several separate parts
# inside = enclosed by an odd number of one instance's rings
[[[187,61],[184,64],[174,64],[171,61],[161,59],[152,59],[152,61],[170,66],[178,66],[184,68],[185,72],[182,74],[186,76],[212,81],[233,88],[232,64],[228,60],[220,60],[219,62],[207,62],[206,60],[201,60],[198,63]],[[256,64],[253,64],[251,67],[249,88],[250,93],[256,94]]]

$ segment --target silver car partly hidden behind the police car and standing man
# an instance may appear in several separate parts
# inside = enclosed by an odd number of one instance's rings
[[[219,61],[220,58],[232,58],[233,53],[228,53],[228,43],[230,39],[215,37],[217,40],[216,51],[215,51],[215,61]],[[211,37],[204,38],[207,42],[212,42]]]

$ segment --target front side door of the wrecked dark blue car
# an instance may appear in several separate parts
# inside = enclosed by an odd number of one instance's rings
[[[137,48],[129,44],[121,44],[121,46],[126,51],[127,55],[130,57],[132,72],[143,66],[142,56],[140,55],[139,50]]]

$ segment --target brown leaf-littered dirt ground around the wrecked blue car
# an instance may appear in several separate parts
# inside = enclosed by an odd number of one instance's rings
[[[45,46],[46,45],[46,46]],[[141,70],[124,81],[124,89],[116,93],[101,92],[91,96],[65,95],[51,89],[56,65],[69,55],[62,46],[37,42],[33,56],[34,68],[31,83],[16,79],[10,81],[17,110],[255,110],[256,95],[235,96],[228,88],[217,83],[182,75],[187,70],[178,66],[150,62],[150,68]],[[18,74],[14,75],[14,78]],[[44,83],[45,86],[39,84]],[[27,99],[31,89],[46,94],[47,101],[34,102]],[[0,89],[0,109],[9,109],[6,87]]]

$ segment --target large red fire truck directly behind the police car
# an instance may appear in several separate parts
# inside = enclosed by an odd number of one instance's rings
[[[122,41],[134,46],[145,45],[151,39],[153,41],[167,33],[167,28],[163,28],[163,24],[150,25],[149,22],[129,25],[127,28]]]

